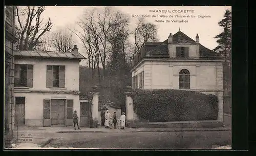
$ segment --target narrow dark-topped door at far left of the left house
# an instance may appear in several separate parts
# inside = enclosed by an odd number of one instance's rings
[[[25,97],[15,97],[15,106],[17,124],[25,124]]]

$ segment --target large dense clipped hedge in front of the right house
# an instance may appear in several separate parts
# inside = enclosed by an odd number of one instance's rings
[[[134,90],[131,96],[140,119],[165,122],[218,118],[216,95],[183,90]]]

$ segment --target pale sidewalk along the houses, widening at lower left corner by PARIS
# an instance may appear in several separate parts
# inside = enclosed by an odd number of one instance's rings
[[[75,130],[71,126],[52,126],[52,127],[18,127],[18,132],[14,131],[14,137],[17,138],[17,144],[13,148],[26,147],[44,147],[54,138],[65,136],[65,133],[72,132],[164,132],[164,131],[223,131],[230,130],[230,127],[219,128],[127,128],[125,129],[108,129],[105,127],[88,128],[81,127]],[[37,146],[37,147],[36,147]]]

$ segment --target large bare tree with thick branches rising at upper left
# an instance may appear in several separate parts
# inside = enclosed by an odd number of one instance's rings
[[[44,6],[27,6],[16,7],[17,16],[17,49],[19,50],[33,50],[42,41],[41,36],[52,28],[51,18],[48,18],[46,23],[43,23],[41,14],[45,11]]]

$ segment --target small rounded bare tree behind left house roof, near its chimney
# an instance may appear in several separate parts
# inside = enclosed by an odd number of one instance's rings
[[[52,44],[58,52],[71,52],[75,44],[73,34],[66,29],[57,30],[52,34]]]

